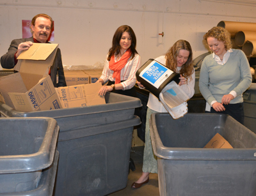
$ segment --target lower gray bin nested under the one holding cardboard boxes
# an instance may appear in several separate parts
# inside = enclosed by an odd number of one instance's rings
[[[133,126],[140,118],[60,133],[55,195],[107,195],[127,186]]]

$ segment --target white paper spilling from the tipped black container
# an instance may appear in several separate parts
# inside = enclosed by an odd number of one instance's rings
[[[174,81],[164,87],[159,94],[159,100],[173,119],[178,119],[188,113],[186,101],[189,100],[189,97]]]

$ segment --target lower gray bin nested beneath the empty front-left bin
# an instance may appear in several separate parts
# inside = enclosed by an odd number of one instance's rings
[[[42,170],[37,188],[26,192],[0,193],[0,196],[50,196],[53,193],[57,172],[59,152],[56,150],[53,163],[47,169]]]

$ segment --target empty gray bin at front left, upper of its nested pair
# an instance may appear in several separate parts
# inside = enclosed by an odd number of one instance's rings
[[[52,165],[56,154],[56,120],[2,118],[0,127],[0,195],[22,195],[35,190],[42,170]]]

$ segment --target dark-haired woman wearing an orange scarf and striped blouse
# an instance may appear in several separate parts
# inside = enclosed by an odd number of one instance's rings
[[[112,47],[109,49],[102,75],[97,80],[102,84],[99,95],[104,96],[107,91],[111,91],[136,97],[135,73],[140,66],[134,31],[127,25],[118,27],[113,36]],[[103,86],[106,82],[108,85]]]

